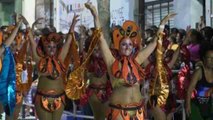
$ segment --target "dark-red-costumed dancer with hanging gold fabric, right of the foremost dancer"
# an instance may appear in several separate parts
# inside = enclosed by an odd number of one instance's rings
[[[151,112],[155,120],[171,119],[172,108],[175,107],[176,103],[169,87],[172,79],[171,69],[178,58],[180,48],[178,47],[176,51],[171,49],[163,51],[162,40],[163,33],[159,35],[155,56],[150,57],[150,63],[146,67],[146,77],[150,80],[149,106],[151,106]]]

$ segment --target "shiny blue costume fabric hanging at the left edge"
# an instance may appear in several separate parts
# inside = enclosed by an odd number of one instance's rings
[[[3,104],[6,114],[12,115],[16,104],[15,61],[10,48],[5,46],[4,48],[3,69],[0,73],[0,102]]]

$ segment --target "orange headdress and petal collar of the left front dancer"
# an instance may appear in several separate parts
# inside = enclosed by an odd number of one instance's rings
[[[62,43],[62,36],[57,33],[50,33],[47,36],[42,36],[37,46],[37,53],[41,57],[38,63],[38,70],[42,73],[49,74],[53,79],[65,72],[63,62],[58,58],[61,49],[54,55],[48,56],[45,53],[44,47],[47,47],[50,42],[54,42],[58,47]]]

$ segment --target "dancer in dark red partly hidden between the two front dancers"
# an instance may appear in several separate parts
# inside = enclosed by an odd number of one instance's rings
[[[89,85],[86,93],[81,97],[81,104],[89,102],[95,120],[103,120],[108,109],[107,103],[112,87],[99,46],[95,48],[87,65],[86,79],[89,80]]]

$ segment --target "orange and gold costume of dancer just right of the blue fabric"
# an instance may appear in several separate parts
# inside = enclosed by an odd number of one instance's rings
[[[29,91],[31,84],[32,84],[32,73],[33,73],[33,66],[32,60],[30,55],[27,55],[27,47],[28,47],[28,35],[29,31],[26,31],[24,35],[24,43],[20,50],[16,49],[14,53],[14,58],[16,62],[16,104],[22,102],[23,93]],[[23,42],[23,33],[19,32],[16,36],[16,45],[19,47],[21,42]],[[30,58],[29,58],[30,57]],[[22,83],[22,73],[23,71],[27,70],[27,81],[26,83]]]

